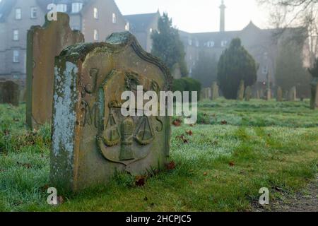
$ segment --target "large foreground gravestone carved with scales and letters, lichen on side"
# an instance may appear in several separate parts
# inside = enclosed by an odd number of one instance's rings
[[[115,33],[106,42],[68,47],[55,65],[52,186],[76,191],[105,184],[115,172],[141,175],[165,165],[170,117],[121,113],[124,91],[136,93],[143,85],[159,93],[172,83],[166,67],[133,35]]]

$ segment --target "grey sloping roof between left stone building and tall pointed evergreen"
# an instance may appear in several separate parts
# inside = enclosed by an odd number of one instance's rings
[[[132,32],[145,32],[153,20],[158,18],[158,15],[160,15],[159,11],[156,13],[126,15],[124,18],[129,22],[129,28]]]

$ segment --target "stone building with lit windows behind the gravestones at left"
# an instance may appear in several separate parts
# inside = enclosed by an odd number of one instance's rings
[[[71,28],[81,30],[86,42],[101,42],[128,29],[114,0],[2,0],[0,78],[25,81],[26,35],[32,25],[45,23],[49,4],[69,14]]]

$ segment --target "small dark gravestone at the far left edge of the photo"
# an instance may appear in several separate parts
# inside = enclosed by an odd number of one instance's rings
[[[0,103],[19,105],[19,85],[13,81],[0,81]]]

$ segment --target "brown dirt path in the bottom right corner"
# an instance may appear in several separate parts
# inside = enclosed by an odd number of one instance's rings
[[[315,182],[294,196],[282,194],[282,198],[272,201],[269,206],[253,204],[256,212],[318,212],[318,176]]]

